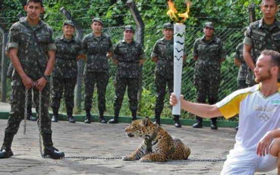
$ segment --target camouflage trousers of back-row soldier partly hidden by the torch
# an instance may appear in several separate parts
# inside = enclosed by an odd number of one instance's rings
[[[173,92],[173,79],[167,79],[162,75],[155,76],[155,86],[156,86],[156,104],[154,112],[161,114],[164,106],[164,98],[166,95],[166,84],[168,87],[168,93]]]

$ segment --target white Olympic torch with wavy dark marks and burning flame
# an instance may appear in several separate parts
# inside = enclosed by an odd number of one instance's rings
[[[184,44],[185,44],[185,30],[186,25],[183,24],[186,18],[188,18],[189,6],[191,2],[186,1],[187,11],[182,14],[178,14],[179,19],[176,17],[176,13],[178,13],[177,9],[174,7],[174,4],[171,0],[167,1],[169,10],[167,11],[167,15],[170,17],[172,21],[176,20],[176,24],[174,24],[174,83],[173,90],[175,95],[179,98],[178,103],[172,108],[172,115],[180,115],[181,113],[181,81],[182,81],[182,68],[183,68],[183,56],[184,56]]]

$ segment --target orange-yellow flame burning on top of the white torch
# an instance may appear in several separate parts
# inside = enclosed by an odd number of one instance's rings
[[[187,1],[186,0],[186,5],[187,5],[187,11],[185,13],[181,13],[181,14],[178,14],[179,17],[181,17],[181,20],[180,22],[185,22],[186,18],[189,18],[189,12],[190,12],[190,5],[191,5],[191,2],[190,1]],[[167,1],[167,4],[168,4],[168,8],[169,10],[167,11],[167,15],[170,17],[170,19],[172,21],[174,21],[174,19],[176,19],[176,21],[178,22],[178,18],[176,17],[176,13],[178,13],[177,9],[175,8],[173,2],[171,0],[168,0]]]

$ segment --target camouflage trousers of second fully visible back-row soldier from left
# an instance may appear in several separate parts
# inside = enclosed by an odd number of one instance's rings
[[[85,104],[84,110],[90,110],[92,107],[92,95],[94,84],[97,87],[98,110],[106,111],[106,89],[109,83],[108,72],[86,72],[84,75],[85,82]]]

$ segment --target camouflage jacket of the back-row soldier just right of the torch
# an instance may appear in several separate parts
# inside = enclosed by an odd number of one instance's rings
[[[210,41],[206,41],[205,36],[196,39],[193,45],[193,56],[197,56],[194,79],[220,79],[219,60],[226,58],[226,49],[222,40],[215,36]]]

